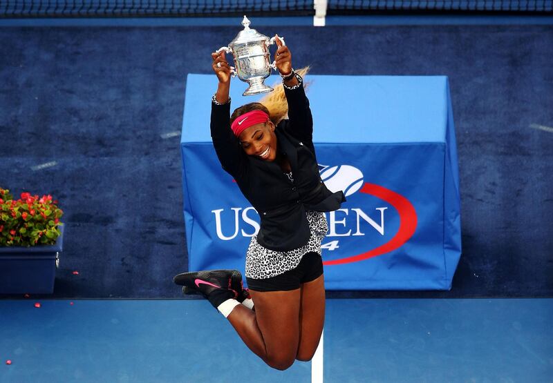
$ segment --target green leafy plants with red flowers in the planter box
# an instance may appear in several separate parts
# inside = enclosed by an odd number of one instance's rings
[[[0,188],[0,246],[55,244],[63,214],[51,195],[21,193],[15,200],[10,190]]]

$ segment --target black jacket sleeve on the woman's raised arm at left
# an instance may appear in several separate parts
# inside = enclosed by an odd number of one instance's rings
[[[245,176],[247,161],[245,152],[230,128],[230,103],[217,105],[212,101],[210,124],[212,141],[223,169],[234,179]]]

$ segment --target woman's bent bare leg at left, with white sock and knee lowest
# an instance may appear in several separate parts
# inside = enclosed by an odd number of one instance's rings
[[[288,369],[298,351],[300,289],[250,290],[250,295],[255,311],[238,305],[227,319],[246,346],[265,363],[274,369]]]

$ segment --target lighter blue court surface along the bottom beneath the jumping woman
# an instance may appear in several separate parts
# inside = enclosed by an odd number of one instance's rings
[[[2,383],[553,382],[553,299],[328,299],[321,362],[287,371],[207,301],[35,302],[0,301]]]

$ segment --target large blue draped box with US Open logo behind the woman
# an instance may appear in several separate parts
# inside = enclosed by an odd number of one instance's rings
[[[306,81],[321,177],[347,199],[326,213],[326,288],[451,288],[461,243],[447,77],[314,75]],[[212,75],[187,77],[181,150],[189,270],[243,272],[259,215],[212,146],[215,88]],[[232,109],[260,98],[242,97],[240,81],[231,88]]]

